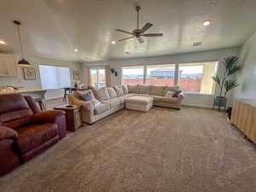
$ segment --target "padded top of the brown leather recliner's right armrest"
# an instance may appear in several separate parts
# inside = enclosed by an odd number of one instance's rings
[[[33,114],[30,119],[30,123],[32,124],[55,123],[63,115],[65,115],[65,112],[61,110],[42,111],[42,112]]]

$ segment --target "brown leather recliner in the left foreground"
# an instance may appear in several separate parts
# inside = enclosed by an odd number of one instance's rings
[[[65,136],[65,112],[41,112],[31,96],[0,96],[0,175]]]

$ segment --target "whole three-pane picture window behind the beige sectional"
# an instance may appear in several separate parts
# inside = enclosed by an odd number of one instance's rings
[[[213,94],[218,62],[123,67],[123,84],[177,84],[184,92]]]

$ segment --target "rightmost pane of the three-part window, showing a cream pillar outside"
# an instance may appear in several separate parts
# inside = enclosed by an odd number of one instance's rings
[[[217,62],[179,64],[177,85],[185,92],[212,94],[216,69]]]

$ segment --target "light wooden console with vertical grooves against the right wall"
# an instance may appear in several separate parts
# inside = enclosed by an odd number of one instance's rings
[[[231,123],[238,127],[253,143],[256,143],[256,100],[235,100]]]

